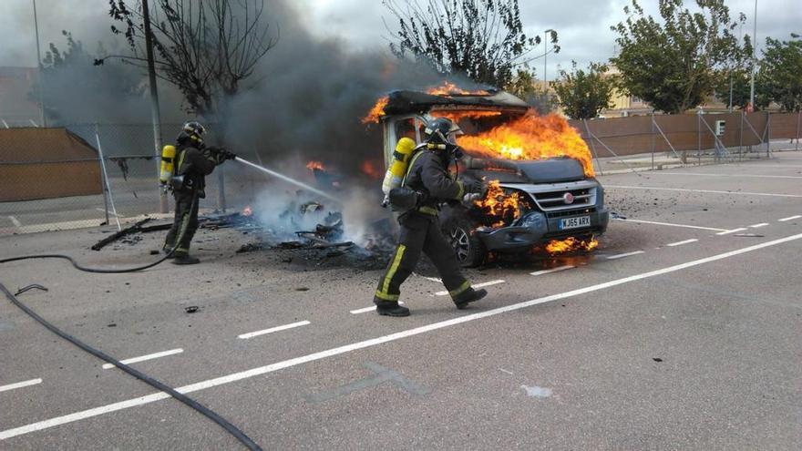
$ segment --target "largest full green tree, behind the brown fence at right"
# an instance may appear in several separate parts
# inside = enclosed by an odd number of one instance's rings
[[[697,12],[683,0],[660,0],[658,22],[637,0],[624,7],[625,21],[612,26],[620,54],[611,58],[621,72],[620,87],[666,113],[682,113],[704,102],[727,67],[751,51],[733,35],[738,24],[724,0],[695,0]]]

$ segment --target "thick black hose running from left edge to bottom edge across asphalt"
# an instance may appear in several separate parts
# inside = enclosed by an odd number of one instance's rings
[[[163,260],[164,259],[162,259],[162,261]],[[156,379],[153,379],[148,374],[141,373],[141,372],[131,368],[129,365],[119,362],[117,359],[111,357],[110,355],[108,355],[106,353],[103,353],[102,351],[99,351],[98,349],[95,349],[95,348],[89,346],[87,343],[81,342],[80,340],[78,340],[74,336],[70,335],[69,333],[66,333],[66,332],[58,329],[55,325],[53,325],[51,323],[48,323],[46,319],[42,318],[41,316],[36,314],[36,312],[34,312],[33,310],[29,309],[24,303],[19,302],[19,300],[16,299],[15,295],[12,294],[11,292],[9,292],[5,288],[5,285],[2,282],[0,282],[0,292],[5,293],[5,297],[8,298],[9,301],[14,303],[23,312],[27,313],[28,316],[30,316],[31,318],[35,319],[38,323],[40,323],[43,326],[45,326],[47,328],[47,330],[49,330],[50,332],[56,333],[61,338],[67,340],[69,343],[75,344],[77,347],[81,348],[82,350],[86,351],[87,353],[92,354],[92,355],[98,357],[98,359],[103,360],[105,362],[108,362],[109,364],[113,364],[114,366],[117,366],[120,370],[122,370],[122,371],[124,371],[124,372],[126,372],[126,373],[128,373],[128,374],[130,374],[130,375],[132,375],[134,377],[136,377],[137,379],[139,379],[140,381],[144,382],[145,384],[149,384],[150,386],[156,388],[157,390],[162,391],[162,392],[174,397],[175,399],[179,400],[180,402],[184,403],[185,405],[189,405],[191,408],[193,408],[193,409],[197,410],[198,412],[200,412],[200,414],[206,415],[209,419],[211,419],[211,421],[217,423],[218,425],[221,425],[221,427],[223,429],[225,429],[226,432],[231,434],[231,436],[236,437],[237,440],[242,442],[242,445],[246,446],[248,449],[251,449],[251,450],[254,450],[254,451],[262,451],[262,448],[259,445],[256,445],[256,443],[251,439],[251,437],[246,436],[245,433],[243,433],[235,425],[231,425],[231,423],[229,423],[228,420],[223,418],[221,415],[216,414],[214,411],[212,411],[210,408],[206,407],[205,405],[201,405],[199,402],[195,401],[194,399],[190,398],[189,396],[183,395],[183,394],[179,393],[178,391],[174,390],[172,387],[170,387],[170,386],[168,386],[166,384],[162,384],[159,381],[157,381]]]

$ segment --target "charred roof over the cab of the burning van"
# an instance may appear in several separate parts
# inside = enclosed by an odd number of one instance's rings
[[[427,113],[432,109],[529,109],[526,102],[504,91],[488,91],[487,95],[434,95],[418,91],[393,91],[385,107],[386,115]]]

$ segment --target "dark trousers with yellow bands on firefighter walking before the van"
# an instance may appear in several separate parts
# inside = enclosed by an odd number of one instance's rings
[[[454,249],[440,231],[437,216],[414,211],[402,215],[398,218],[398,223],[401,226],[398,246],[386,272],[379,279],[375,304],[398,302],[401,284],[415,271],[421,252],[426,253],[435,264],[452,298],[470,288],[470,284],[462,276]]]

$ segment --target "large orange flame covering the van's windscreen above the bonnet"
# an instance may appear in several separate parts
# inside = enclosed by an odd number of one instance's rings
[[[476,136],[458,137],[457,142],[468,153],[489,158],[571,157],[581,162],[586,176],[595,175],[588,145],[565,118],[555,114],[540,117],[530,112]]]

